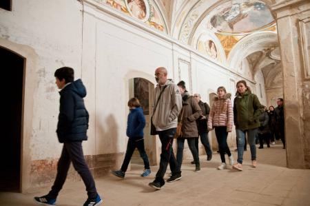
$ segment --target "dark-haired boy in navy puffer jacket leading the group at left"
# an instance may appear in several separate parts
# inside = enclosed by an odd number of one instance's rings
[[[59,121],[57,124],[57,136],[63,143],[63,151],[57,165],[57,175],[50,192],[41,197],[34,197],[36,203],[43,205],[55,205],[56,198],[65,183],[70,163],[81,176],[87,190],[87,200],[83,206],[100,205],[103,201],[96,191],[94,178],[85,163],[82,141],[87,140],[88,112],[83,98],[86,96],[85,86],[81,79],[74,81],[74,70],[63,67],[56,70],[56,85],[61,90]]]

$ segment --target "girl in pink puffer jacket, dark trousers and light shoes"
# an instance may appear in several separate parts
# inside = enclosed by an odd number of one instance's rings
[[[234,164],[234,157],[227,145],[227,135],[232,129],[234,112],[230,101],[231,94],[226,93],[225,87],[218,87],[217,93],[218,96],[214,97],[214,102],[209,114],[208,130],[211,131],[215,128],[216,139],[220,150],[220,159],[222,160],[222,164],[218,166],[218,169],[225,169],[227,168],[225,153],[229,156],[229,165]]]

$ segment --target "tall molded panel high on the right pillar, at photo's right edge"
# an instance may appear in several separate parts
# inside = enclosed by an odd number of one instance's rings
[[[298,25],[304,78],[310,79],[310,17],[307,17],[306,19],[298,19]]]

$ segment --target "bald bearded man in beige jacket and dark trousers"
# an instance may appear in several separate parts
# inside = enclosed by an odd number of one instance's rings
[[[176,157],[172,150],[174,134],[178,123],[178,114],[182,109],[182,96],[178,86],[172,79],[167,79],[167,70],[163,67],[155,70],[155,79],[158,85],[155,87],[154,109],[152,114],[152,123],[156,127],[156,133],[161,139],[161,161],[156,178],[150,187],[161,189],[165,185],[164,176],[168,163],[172,171],[172,176],[181,178],[180,172],[176,172]]]

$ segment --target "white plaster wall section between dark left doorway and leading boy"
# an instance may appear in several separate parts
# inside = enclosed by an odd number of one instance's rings
[[[56,138],[56,119],[59,110],[59,94],[54,70],[63,65],[81,70],[81,12],[80,3],[70,1],[12,1],[12,12],[0,10],[0,38],[20,45],[27,45],[36,52],[31,84],[33,96],[32,136],[30,156],[32,160],[56,158],[61,145]],[[18,52],[18,51],[14,51]],[[28,59],[27,61],[32,61]],[[30,68],[25,68],[27,76]],[[27,90],[27,85],[25,85]],[[29,112],[29,111],[28,111]]]

